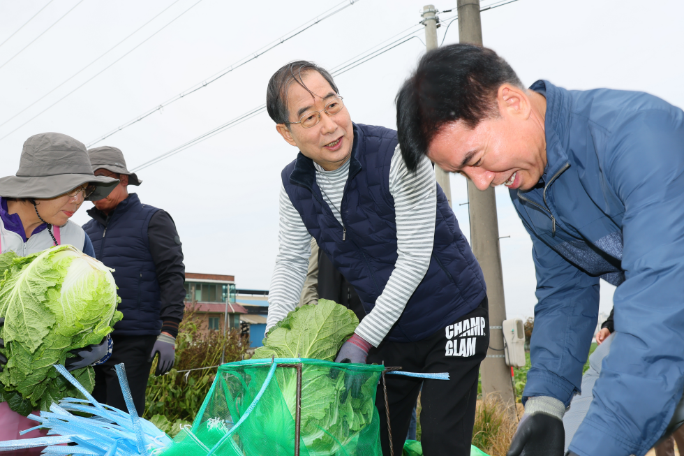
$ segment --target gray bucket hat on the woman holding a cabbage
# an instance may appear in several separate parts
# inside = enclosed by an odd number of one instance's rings
[[[89,201],[106,198],[118,179],[95,176],[85,145],[61,133],[39,133],[24,142],[19,170],[0,179],[0,196],[48,199],[91,183]]]

